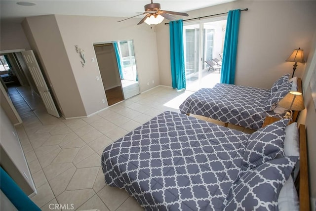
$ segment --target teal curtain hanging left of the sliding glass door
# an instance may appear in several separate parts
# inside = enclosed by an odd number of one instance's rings
[[[182,20],[170,21],[169,26],[172,87],[185,89],[186,73],[183,52],[183,22]]]

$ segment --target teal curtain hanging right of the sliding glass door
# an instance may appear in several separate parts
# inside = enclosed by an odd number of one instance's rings
[[[221,83],[234,84],[240,9],[228,12],[224,42]]]

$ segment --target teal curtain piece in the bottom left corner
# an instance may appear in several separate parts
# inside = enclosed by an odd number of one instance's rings
[[[0,168],[1,191],[18,211],[40,211],[40,208],[21,190],[14,180]]]

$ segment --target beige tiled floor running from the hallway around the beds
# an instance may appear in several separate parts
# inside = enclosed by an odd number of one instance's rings
[[[71,120],[47,114],[29,88],[12,87],[9,93],[23,120],[16,130],[38,190],[31,199],[43,211],[50,211],[50,204],[138,211],[143,209],[134,198],[104,183],[100,156],[107,145],[159,113],[178,112],[192,92],[158,86],[91,117]]]

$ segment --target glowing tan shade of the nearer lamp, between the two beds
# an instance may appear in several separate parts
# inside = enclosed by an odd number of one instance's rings
[[[298,91],[290,91],[278,102],[279,106],[293,111],[304,110],[303,94]]]

